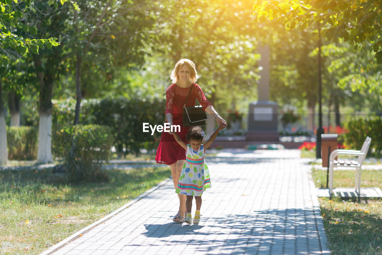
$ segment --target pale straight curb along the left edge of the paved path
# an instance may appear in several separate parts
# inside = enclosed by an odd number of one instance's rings
[[[162,187],[163,185],[165,185],[168,181],[170,181],[171,178],[168,178],[162,182],[160,182],[157,186],[154,186],[153,188],[151,188],[150,190],[147,190],[145,193],[143,193],[142,195],[134,198],[133,200],[131,200],[129,203],[121,206],[120,208],[118,208],[117,210],[113,211],[112,213],[108,214],[107,216],[103,217],[102,219],[99,219],[98,221],[92,223],[91,225],[87,226],[87,227],[84,227],[83,229],[77,231],[76,233],[74,233],[73,235],[70,235],[69,237],[65,238],[64,240],[62,240],[61,242],[59,242],[58,244],[55,244],[53,245],[52,247],[50,247],[49,249],[45,250],[44,252],[40,253],[40,255],[48,255],[48,254],[51,254],[55,251],[57,251],[59,248],[62,248],[63,246],[65,246],[66,244],[68,244],[69,242],[73,241],[73,240],[76,240],[77,238],[79,238],[79,235],[83,235],[85,232],[91,230],[92,228],[98,226],[99,224],[102,224],[103,222],[107,221],[108,219],[110,219],[111,217],[115,216],[116,214],[118,214],[119,212],[125,210],[126,208],[128,208],[129,206],[135,204],[136,202],[138,202],[139,200],[141,200],[142,198],[144,198],[145,196],[149,195],[150,193],[152,193],[154,190],[157,190],[159,189],[160,187]]]

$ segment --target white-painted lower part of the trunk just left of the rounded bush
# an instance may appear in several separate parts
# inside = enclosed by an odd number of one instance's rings
[[[39,145],[37,164],[53,163],[52,156],[52,114],[40,113]]]

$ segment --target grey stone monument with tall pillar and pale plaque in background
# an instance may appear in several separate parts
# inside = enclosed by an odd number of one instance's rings
[[[257,87],[259,100],[249,104],[246,141],[278,143],[278,105],[269,101],[269,46],[259,48],[259,75]]]

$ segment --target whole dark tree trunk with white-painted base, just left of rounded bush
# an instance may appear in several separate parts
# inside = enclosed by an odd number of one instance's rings
[[[41,60],[38,59],[38,66]],[[40,82],[40,123],[37,164],[53,163],[52,156],[52,88],[53,77],[50,74],[38,73]]]

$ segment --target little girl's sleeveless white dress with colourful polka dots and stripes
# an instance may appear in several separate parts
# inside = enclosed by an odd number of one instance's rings
[[[211,187],[210,174],[207,164],[204,163],[204,146],[201,145],[198,151],[194,151],[190,144],[187,144],[186,162],[175,192],[189,196],[201,196],[203,191]]]

